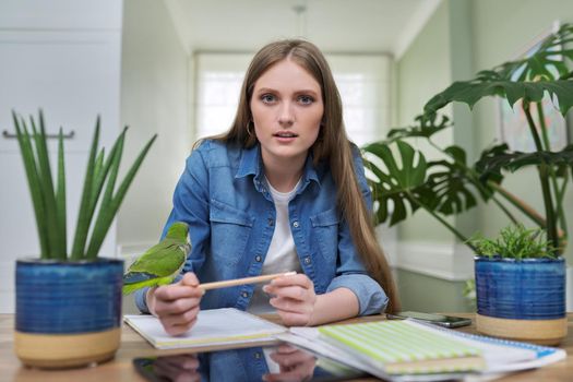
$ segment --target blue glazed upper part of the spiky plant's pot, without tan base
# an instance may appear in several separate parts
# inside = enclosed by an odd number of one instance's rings
[[[75,334],[120,327],[123,261],[16,262],[16,331]]]

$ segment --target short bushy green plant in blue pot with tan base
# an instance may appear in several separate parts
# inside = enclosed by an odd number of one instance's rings
[[[475,280],[478,331],[488,335],[558,344],[566,335],[564,259],[542,229],[503,228],[478,236]]]

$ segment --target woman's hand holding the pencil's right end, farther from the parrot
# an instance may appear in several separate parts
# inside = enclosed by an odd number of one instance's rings
[[[263,290],[273,295],[270,303],[276,308],[285,325],[308,326],[312,324],[317,295],[314,284],[307,275],[277,277],[265,285]]]

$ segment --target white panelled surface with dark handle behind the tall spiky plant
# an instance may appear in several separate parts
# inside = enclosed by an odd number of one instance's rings
[[[116,0],[0,2],[0,130],[14,132],[11,109],[43,108],[49,134],[74,131],[64,144],[69,243],[96,116],[104,145],[119,131],[121,11]],[[15,260],[38,256],[39,244],[15,139],[0,136],[0,312],[12,312]],[[112,226],[102,254],[115,255],[115,237]]]

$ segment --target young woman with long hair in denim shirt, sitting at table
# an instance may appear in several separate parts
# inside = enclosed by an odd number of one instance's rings
[[[191,252],[176,284],[136,294],[170,334],[201,309],[276,309],[286,325],[318,325],[398,307],[375,240],[371,196],[343,124],[331,70],[303,40],[253,58],[230,130],[187,160],[167,228],[189,224]],[[204,294],[207,283],[297,271],[265,286]]]

